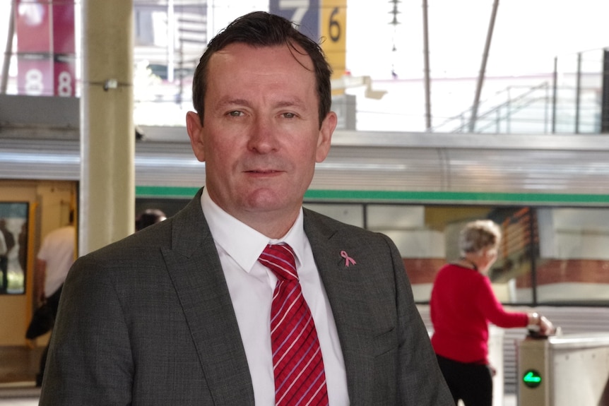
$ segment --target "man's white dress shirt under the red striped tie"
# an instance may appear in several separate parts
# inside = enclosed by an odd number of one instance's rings
[[[309,239],[305,234],[302,209],[288,234],[276,240],[265,237],[226,213],[211,200],[207,189],[203,189],[201,207],[218,249],[232,306],[235,308],[256,405],[275,405],[271,301],[277,277],[258,262],[258,257],[266,244],[278,242],[289,244],[296,256],[302,295],[313,314],[324,357],[329,403],[331,406],[349,405],[343,352],[326,289],[319,277]]]

